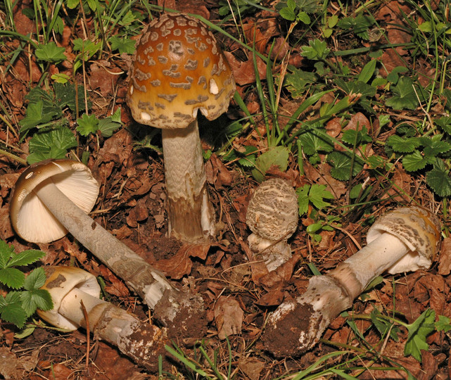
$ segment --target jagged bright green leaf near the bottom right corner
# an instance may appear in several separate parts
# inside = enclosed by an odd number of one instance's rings
[[[434,331],[434,320],[436,312],[434,310],[425,310],[415,322],[408,324],[407,331],[409,336],[404,347],[404,355],[412,355],[421,362],[421,350],[428,350],[426,337]]]

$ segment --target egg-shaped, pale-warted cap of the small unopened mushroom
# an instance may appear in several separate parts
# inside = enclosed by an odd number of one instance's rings
[[[298,195],[284,179],[262,182],[250,198],[246,224],[264,239],[288,239],[298,228]]]

